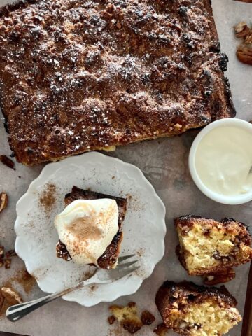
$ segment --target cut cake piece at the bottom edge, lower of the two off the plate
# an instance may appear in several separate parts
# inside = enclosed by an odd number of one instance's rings
[[[221,336],[241,321],[237,301],[225,286],[166,281],[155,302],[167,328],[184,336]]]

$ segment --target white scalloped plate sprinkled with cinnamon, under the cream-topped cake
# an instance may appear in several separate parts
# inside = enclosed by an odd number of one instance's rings
[[[41,204],[48,184],[55,186],[55,202],[50,211]],[[16,252],[47,293],[70,287],[90,272],[89,266],[66,262],[55,255],[58,237],[54,218],[64,209],[64,195],[73,185],[127,197],[121,255],[137,253],[141,267],[130,277],[87,286],[65,295],[64,300],[90,307],[135,293],[165,253],[165,205],[139,168],[116,158],[92,152],[46,165],[18,201]]]

